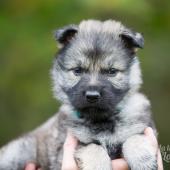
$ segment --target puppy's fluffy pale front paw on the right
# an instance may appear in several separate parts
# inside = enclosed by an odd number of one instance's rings
[[[122,148],[123,156],[131,170],[157,170],[156,149],[144,135],[127,139]]]

